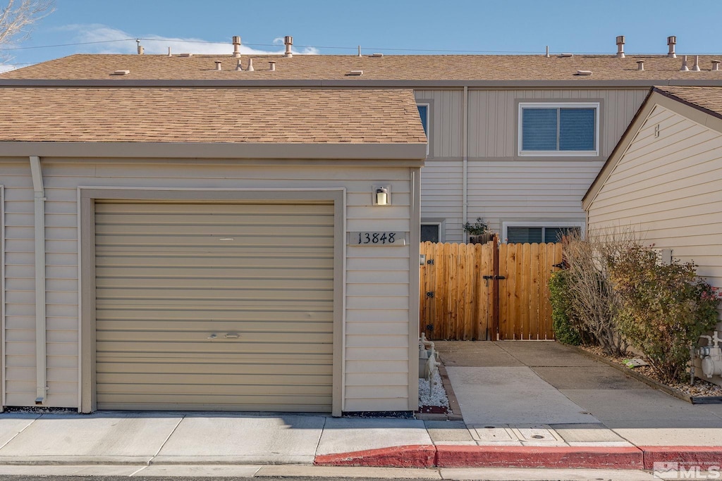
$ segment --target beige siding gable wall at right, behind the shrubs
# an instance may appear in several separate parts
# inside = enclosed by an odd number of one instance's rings
[[[589,226],[632,226],[722,287],[721,205],[722,134],[657,106],[591,203]]]

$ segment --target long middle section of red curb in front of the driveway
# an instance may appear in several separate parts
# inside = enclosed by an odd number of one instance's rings
[[[641,469],[635,447],[436,446],[437,467],[544,467]]]

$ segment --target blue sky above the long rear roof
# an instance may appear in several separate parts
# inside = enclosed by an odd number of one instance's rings
[[[6,0],[0,0],[4,6]],[[23,66],[73,53],[722,53],[722,0],[56,0],[29,40],[9,50]],[[190,43],[198,40],[202,43]],[[100,42],[100,43],[89,43]],[[220,43],[215,44],[215,43]],[[66,45],[86,43],[84,45]],[[222,45],[225,43],[225,45]],[[0,52],[2,53],[2,52]]]

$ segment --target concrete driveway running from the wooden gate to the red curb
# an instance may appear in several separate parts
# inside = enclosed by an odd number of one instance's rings
[[[572,446],[722,446],[722,405],[691,405],[560,343],[435,345],[475,438],[516,445],[531,433],[526,441]]]

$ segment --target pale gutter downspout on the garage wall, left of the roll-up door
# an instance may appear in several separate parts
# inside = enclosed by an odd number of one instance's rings
[[[35,404],[43,404],[48,391],[45,353],[45,188],[40,157],[30,156],[35,191]]]

